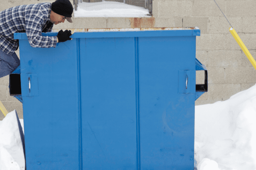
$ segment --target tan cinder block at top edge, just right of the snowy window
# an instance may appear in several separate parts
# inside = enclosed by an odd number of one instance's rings
[[[161,1],[159,17],[192,16],[192,1]]]

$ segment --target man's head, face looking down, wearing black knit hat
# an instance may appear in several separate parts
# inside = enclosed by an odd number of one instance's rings
[[[67,19],[72,22],[71,17],[73,13],[73,6],[69,0],[56,0],[52,3],[52,11],[50,14],[50,21],[54,24],[59,24]]]

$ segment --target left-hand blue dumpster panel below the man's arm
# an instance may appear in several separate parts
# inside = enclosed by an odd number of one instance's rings
[[[28,40],[19,43],[26,169],[78,170],[76,41],[56,48],[33,48]]]

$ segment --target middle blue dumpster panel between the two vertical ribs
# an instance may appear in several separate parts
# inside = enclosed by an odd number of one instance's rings
[[[83,170],[136,169],[134,38],[83,38]]]

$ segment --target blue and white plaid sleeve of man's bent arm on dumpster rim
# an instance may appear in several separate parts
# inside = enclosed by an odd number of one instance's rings
[[[25,17],[28,42],[32,47],[56,47],[56,36],[42,36],[42,24],[44,24],[43,15],[31,14]]]

